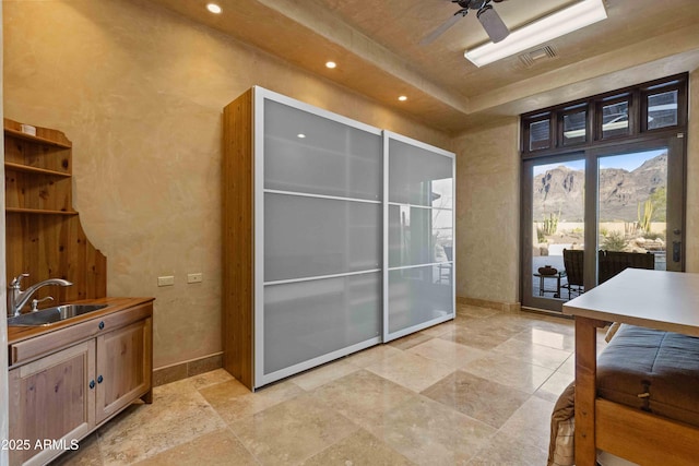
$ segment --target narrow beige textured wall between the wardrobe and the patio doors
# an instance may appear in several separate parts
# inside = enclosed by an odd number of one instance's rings
[[[457,296],[519,301],[519,119],[454,140]]]

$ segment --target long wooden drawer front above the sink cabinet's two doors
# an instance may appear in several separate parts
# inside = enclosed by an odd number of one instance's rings
[[[128,325],[152,314],[153,304],[145,303],[15,343],[10,346],[10,366],[28,362],[39,356]]]

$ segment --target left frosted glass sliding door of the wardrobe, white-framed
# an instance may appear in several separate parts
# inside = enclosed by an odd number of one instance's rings
[[[254,385],[375,345],[382,325],[380,130],[256,93]]]

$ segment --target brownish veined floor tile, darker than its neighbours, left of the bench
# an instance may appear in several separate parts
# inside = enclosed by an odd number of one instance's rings
[[[496,429],[530,396],[463,371],[446,377],[422,394]]]

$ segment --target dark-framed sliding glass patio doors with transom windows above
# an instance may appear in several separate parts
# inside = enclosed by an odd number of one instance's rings
[[[521,116],[523,307],[684,271],[688,94],[683,73]]]

